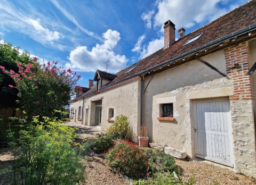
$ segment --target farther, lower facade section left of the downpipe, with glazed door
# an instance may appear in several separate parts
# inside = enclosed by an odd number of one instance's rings
[[[70,107],[75,108],[71,121],[94,126],[95,105],[98,102],[101,106],[101,129],[107,131],[112,120],[109,120],[109,109],[114,109],[114,117],[121,114],[129,117],[133,131],[137,135],[140,127],[140,84],[138,78],[118,84],[116,88],[106,89],[101,93],[71,102]],[[83,119],[76,120],[78,107],[83,107]],[[86,115],[87,112],[87,115]]]

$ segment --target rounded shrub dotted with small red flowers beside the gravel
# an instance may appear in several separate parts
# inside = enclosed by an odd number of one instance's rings
[[[105,155],[109,167],[114,167],[130,177],[147,171],[148,162],[141,148],[134,142],[118,140]]]

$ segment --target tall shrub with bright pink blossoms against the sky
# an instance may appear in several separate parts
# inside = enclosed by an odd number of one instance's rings
[[[17,61],[18,72],[0,68],[14,80],[16,86],[12,88],[19,90],[18,103],[28,115],[51,116],[54,110],[62,110],[75,95],[76,82],[81,75],[58,68],[58,62],[39,65],[36,57],[33,61],[35,65],[22,65]]]

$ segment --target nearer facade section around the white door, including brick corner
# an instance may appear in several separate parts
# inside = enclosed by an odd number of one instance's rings
[[[229,100],[232,163],[235,171],[255,178],[254,87],[253,77],[246,73],[251,68],[249,50],[254,53],[256,49],[249,48],[255,40],[249,42],[202,57],[229,79],[197,60],[145,78],[143,123],[148,127],[150,142],[182,150],[194,158],[194,102],[216,98]],[[234,62],[242,68],[229,70]],[[161,99],[173,104],[173,121],[158,119]]]

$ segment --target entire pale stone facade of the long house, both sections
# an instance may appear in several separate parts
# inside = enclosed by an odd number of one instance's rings
[[[186,154],[193,159],[196,157],[197,143],[195,103],[209,100],[227,101],[230,106],[230,114],[228,114],[230,115],[228,134],[231,136],[230,162],[236,172],[255,178],[254,83],[256,74],[253,73],[251,77],[246,76],[253,65],[251,58],[256,61],[254,46],[256,46],[256,39],[201,57],[223,74],[227,74],[228,78],[198,60],[191,60],[145,77],[143,89],[141,89],[141,78],[136,77],[80,98],[78,102],[71,103],[70,107],[74,107],[75,110],[78,110],[79,106],[83,107],[83,119],[76,120],[74,115],[71,121],[78,123],[83,121],[83,124],[93,126],[95,105],[101,102],[102,130],[107,130],[113,121],[109,117],[111,109],[114,110],[114,117],[121,114],[129,117],[133,131],[137,135],[141,125],[142,106],[142,124],[148,128],[149,141],[154,142],[152,146],[156,148],[163,146],[174,153],[178,151],[177,157],[183,158]],[[230,70],[234,62],[242,68]],[[141,104],[141,91],[143,104]],[[172,104],[173,117],[161,117],[161,107],[166,103]]]

